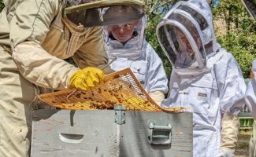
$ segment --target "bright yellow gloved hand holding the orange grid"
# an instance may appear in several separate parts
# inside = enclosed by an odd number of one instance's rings
[[[101,83],[105,78],[102,70],[93,67],[83,68],[74,72],[69,80],[69,88],[91,89]]]

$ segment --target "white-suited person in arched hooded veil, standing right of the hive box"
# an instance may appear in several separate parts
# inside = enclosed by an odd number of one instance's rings
[[[216,41],[210,6],[205,0],[178,2],[158,24],[157,35],[173,64],[162,106],[194,113],[195,157],[233,156],[246,86],[239,64]]]

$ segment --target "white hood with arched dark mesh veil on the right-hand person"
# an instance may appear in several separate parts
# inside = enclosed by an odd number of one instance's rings
[[[157,27],[158,42],[179,75],[198,75],[219,46],[207,2],[178,2]]]

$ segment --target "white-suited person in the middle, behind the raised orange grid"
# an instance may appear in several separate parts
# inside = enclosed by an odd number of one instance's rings
[[[114,71],[131,68],[153,100],[161,104],[168,91],[168,79],[160,57],[145,40],[146,16],[127,24],[109,25],[104,29],[110,67]]]

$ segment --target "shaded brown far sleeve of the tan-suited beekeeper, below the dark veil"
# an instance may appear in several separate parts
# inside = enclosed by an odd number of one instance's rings
[[[86,42],[72,57],[79,68],[103,68],[109,61],[103,42],[102,27],[91,27]],[[108,68],[106,68],[107,70]]]

